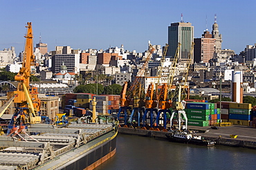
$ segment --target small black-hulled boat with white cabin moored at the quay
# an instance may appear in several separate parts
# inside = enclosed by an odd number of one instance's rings
[[[181,143],[188,143],[188,144],[191,143],[191,144],[203,145],[207,147],[215,145],[214,140],[207,140],[202,136],[196,136],[194,134],[186,133],[186,132],[183,132],[183,133],[174,132],[174,133],[171,133],[170,135],[165,134],[165,136],[171,142],[181,142]]]

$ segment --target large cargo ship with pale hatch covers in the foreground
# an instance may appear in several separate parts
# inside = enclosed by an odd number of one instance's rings
[[[118,121],[32,124],[0,136],[0,169],[94,169],[116,153]]]

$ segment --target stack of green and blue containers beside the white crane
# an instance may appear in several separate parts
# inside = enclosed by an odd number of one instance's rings
[[[187,103],[188,125],[209,126],[219,123],[221,116],[215,103]]]

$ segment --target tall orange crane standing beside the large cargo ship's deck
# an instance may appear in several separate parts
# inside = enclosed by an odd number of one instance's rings
[[[38,98],[37,87],[30,87],[30,76],[32,65],[35,65],[35,55],[33,54],[33,30],[32,24],[27,23],[27,34],[24,59],[22,67],[19,73],[15,76],[15,81],[18,81],[17,90],[12,94],[17,94],[14,98],[15,103],[15,114],[12,116],[10,122],[10,129],[14,129],[15,126],[24,127],[27,123],[40,123],[41,116],[39,116],[40,100]],[[13,95],[8,95],[13,96]],[[12,133],[8,131],[8,133]]]

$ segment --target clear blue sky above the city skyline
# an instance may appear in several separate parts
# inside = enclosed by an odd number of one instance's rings
[[[167,43],[171,23],[190,22],[194,37],[212,31],[217,14],[222,48],[239,54],[256,43],[255,0],[0,0],[0,50],[24,50],[26,23],[32,22],[34,46],[48,44],[87,50],[120,47],[145,52],[152,45]]]

